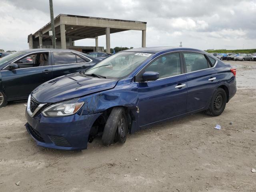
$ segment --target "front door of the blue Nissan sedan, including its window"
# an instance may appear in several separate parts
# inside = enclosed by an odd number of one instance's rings
[[[140,126],[186,112],[187,80],[181,61],[178,52],[165,54],[138,74],[146,71],[159,73],[158,80],[136,82]]]

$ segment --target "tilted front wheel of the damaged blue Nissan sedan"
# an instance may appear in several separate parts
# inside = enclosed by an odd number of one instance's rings
[[[112,144],[116,139],[124,143],[128,134],[128,118],[124,108],[115,107],[112,109],[105,124],[102,134],[102,143],[106,146]]]

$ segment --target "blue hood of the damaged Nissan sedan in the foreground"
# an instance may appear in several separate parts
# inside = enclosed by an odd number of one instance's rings
[[[34,89],[31,96],[40,103],[55,103],[112,89],[117,82],[117,79],[103,79],[75,73],[45,82]]]

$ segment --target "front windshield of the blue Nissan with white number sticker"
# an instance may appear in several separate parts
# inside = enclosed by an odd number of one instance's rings
[[[106,78],[124,78],[152,55],[151,53],[141,52],[116,53],[82,72],[82,74],[94,74]]]

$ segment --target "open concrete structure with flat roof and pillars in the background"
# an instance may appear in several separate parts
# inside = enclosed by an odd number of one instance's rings
[[[141,30],[142,47],[146,46],[146,22],[59,14],[54,18],[54,26],[56,48],[103,52],[104,47],[98,46],[98,36],[106,35],[106,52],[110,53],[110,34],[127,30]],[[49,22],[34,34],[28,35],[29,48],[52,48],[50,30]],[[94,38],[95,46],[74,45],[74,41],[86,38]]]

